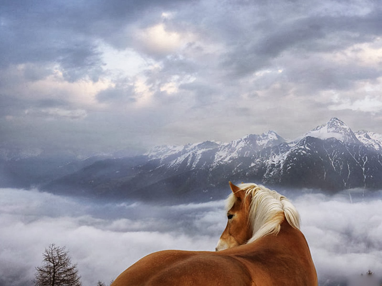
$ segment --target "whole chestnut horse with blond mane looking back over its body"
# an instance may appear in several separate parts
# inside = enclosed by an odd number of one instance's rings
[[[127,268],[111,286],[317,286],[295,207],[263,186],[230,186],[228,223],[217,252],[155,252]]]

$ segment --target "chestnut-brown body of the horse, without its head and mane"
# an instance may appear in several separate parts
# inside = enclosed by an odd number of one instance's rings
[[[159,251],[121,273],[112,286],[317,286],[304,235],[285,220],[280,232],[219,252]]]

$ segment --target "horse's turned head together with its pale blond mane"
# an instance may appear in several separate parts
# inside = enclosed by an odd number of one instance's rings
[[[277,235],[286,220],[299,228],[299,215],[288,199],[254,183],[235,186],[227,199],[228,222],[216,251],[251,243],[265,235]]]

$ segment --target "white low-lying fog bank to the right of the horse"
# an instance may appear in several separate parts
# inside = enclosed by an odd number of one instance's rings
[[[382,277],[382,200],[305,195],[295,206],[321,277],[351,277],[374,269]],[[377,273],[378,272],[378,273]]]

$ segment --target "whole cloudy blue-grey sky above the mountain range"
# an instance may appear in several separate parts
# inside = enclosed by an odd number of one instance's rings
[[[0,147],[382,133],[381,34],[379,0],[5,0]]]

